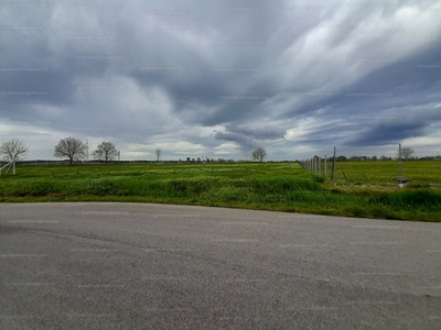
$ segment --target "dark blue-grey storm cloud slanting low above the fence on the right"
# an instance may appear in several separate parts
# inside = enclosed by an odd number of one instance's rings
[[[437,70],[424,69],[423,64],[439,63],[440,54],[440,47],[432,46],[408,58],[392,61],[356,84],[295,109],[295,113],[308,114],[327,107],[329,110],[323,114],[323,119],[345,120],[346,134],[351,135],[347,145],[351,146],[390,144],[406,138],[420,136],[424,128],[441,120],[441,117],[437,116],[439,110],[428,118],[424,108],[421,108],[421,106],[433,107],[441,85],[441,76]],[[378,58],[378,61],[387,59]],[[369,58],[358,58],[358,63],[369,65]],[[402,122],[404,118],[409,117],[410,121]],[[311,138],[318,136],[335,139],[344,138],[344,134],[342,135],[341,125],[333,124],[326,130],[321,127]]]

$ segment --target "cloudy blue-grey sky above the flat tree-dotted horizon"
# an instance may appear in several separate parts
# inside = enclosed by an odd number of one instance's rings
[[[441,154],[441,1],[0,0],[0,141],[121,160]]]

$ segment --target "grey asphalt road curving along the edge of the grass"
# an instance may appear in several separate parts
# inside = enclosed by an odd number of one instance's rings
[[[0,329],[441,329],[441,223],[1,204]]]

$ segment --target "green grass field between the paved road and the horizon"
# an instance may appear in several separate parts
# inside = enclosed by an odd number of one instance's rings
[[[288,162],[23,165],[15,176],[0,176],[0,201],[161,202],[441,221],[441,189],[429,186],[441,184],[440,166],[404,163],[412,182],[398,188],[396,162],[337,163],[336,185]]]

